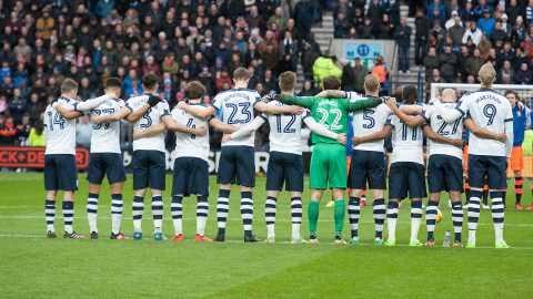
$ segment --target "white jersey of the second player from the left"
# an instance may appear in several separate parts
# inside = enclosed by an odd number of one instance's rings
[[[124,101],[109,95],[105,102],[90,111],[93,115],[109,115],[120,111]],[[117,153],[120,154],[120,121],[111,123],[92,124],[91,153]]]

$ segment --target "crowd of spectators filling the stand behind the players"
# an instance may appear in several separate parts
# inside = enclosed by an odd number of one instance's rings
[[[414,51],[426,83],[475,82],[482,37],[492,41],[499,83],[533,83],[533,1],[424,2],[408,1],[411,28],[395,0],[0,0],[0,145],[28,138],[66,76],[80,82],[81,99],[119,76],[127,99],[142,92],[143,74],[155,73],[172,106],[192,79],[207,86],[209,102],[241,65],[254,73],[250,87],[266,92],[280,72],[301,64],[301,93],[313,94],[322,58],[346,90],[360,91],[368,72],[386,86],[383,60],[369,69],[322,55],[311,27],[324,10],[333,11],[335,38],[396,40],[401,72]]]

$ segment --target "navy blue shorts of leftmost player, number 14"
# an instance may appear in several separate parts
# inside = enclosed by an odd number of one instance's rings
[[[44,189],[78,189],[78,169],[76,168],[74,155],[44,155]]]

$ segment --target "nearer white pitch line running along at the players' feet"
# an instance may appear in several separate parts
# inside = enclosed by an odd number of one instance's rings
[[[46,236],[44,235],[36,235],[36,234],[2,234],[0,233],[0,238],[19,238],[19,239],[46,239]],[[61,237],[58,237],[58,239],[61,239]],[[89,239],[87,239],[89,240]],[[114,240],[109,240],[109,239],[102,239],[103,241],[114,241]],[[98,240],[98,241],[102,241],[102,240]],[[131,240],[131,239],[128,239],[128,240]],[[127,241],[128,241],[127,240]],[[143,240],[147,240],[147,241],[152,241],[151,238],[144,238]],[[76,241],[76,240],[74,240]],[[91,241],[97,241],[97,240],[91,240]],[[141,240],[142,241],[142,240]],[[163,241],[164,243],[164,241]],[[192,241],[191,241],[192,243]],[[299,246],[299,247],[309,247],[309,248],[314,248],[314,247],[320,247],[320,246],[328,246],[328,247],[339,247],[339,248],[352,248],[352,249],[355,249],[358,247],[376,247],[375,245],[373,245],[372,243],[360,243],[358,246],[350,246],[349,244],[345,244],[345,245],[338,245],[338,244],[334,244],[334,243],[320,243],[320,244],[292,244],[291,241],[276,241],[275,244],[268,244],[268,243],[264,243],[264,241],[259,241],[257,244],[244,244],[242,240],[225,240],[224,243],[213,243],[214,246],[218,246],[218,245],[223,245],[223,244],[242,244],[242,245],[245,245],[245,246],[276,246],[276,245],[290,245],[290,246]],[[179,245],[177,245],[179,246]],[[406,244],[398,244],[396,246],[394,247],[410,247],[409,245]],[[389,248],[389,247],[384,247],[384,246],[380,246],[380,248]],[[393,248],[393,247],[391,247]],[[410,247],[411,248],[411,247]],[[412,247],[414,249],[416,248],[425,248],[423,246],[421,247]],[[443,248],[443,247],[435,247],[435,248]],[[490,247],[490,246],[477,246],[475,249],[496,249],[494,247]],[[428,250],[431,250],[428,248]],[[450,250],[473,250],[473,249],[467,249],[467,248],[450,248]],[[504,249],[499,249],[499,250],[502,250],[504,251]],[[533,250],[533,247],[511,247],[509,248],[509,250]]]

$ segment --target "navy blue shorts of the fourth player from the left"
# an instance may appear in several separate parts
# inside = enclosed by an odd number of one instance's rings
[[[174,161],[172,195],[209,196],[209,165],[202,158],[179,157]]]

